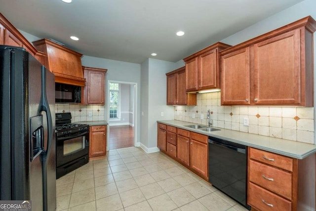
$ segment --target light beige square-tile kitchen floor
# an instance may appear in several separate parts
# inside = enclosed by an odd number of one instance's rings
[[[57,211],[247,211],[190,170],[138,147],[57,179]]]

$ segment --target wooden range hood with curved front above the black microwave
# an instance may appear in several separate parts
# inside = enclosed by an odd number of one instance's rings
[[[62,84],[85,85],[83,78],[82,54],[46,39],[33,42],[37,50],[44,52],[44,65],[55,75],[55,82]]]

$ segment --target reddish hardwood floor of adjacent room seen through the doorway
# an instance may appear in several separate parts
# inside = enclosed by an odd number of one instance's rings
[[[110,126],[109,136],[110,150],[134,146],[134,127]]]

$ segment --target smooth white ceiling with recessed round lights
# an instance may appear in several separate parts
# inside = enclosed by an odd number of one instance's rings
[[[0,12],[16,28],[84,55],[176,62],[301,1],[0,0]]]

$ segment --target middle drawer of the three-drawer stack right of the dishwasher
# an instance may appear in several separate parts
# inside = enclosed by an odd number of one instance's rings
[[[292,199],[292,174],[255,161],[249,161],[249,181]]]

